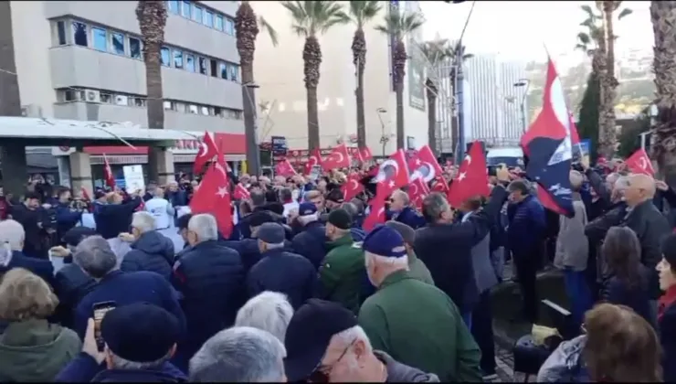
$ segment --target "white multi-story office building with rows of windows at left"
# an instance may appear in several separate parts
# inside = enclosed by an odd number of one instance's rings
[[[26,114],[147,127],[137,2],[12,2],[19,91]],[[229,160],[245,153],[234,17],[236,1],[168,1],[162,48],[164,128],[227,133]],[[55,155],[73,149],[55,148]],[[174,162],[190,162],[181,143]],[[92,163],[146,161],[145,148],[87,148]],[[124,154],[124,156],[122,156]]]

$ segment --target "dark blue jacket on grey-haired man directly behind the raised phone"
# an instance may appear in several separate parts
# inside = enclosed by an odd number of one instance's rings
[[[171,284],[155,272],[113,271],[104,276],[93,291],[88,293],[75,308],[75,331],[83,338],[92,306],[101,302],[115,302],[117,306],[133,303],[149,303],[164,308],[176,316],[185,334],[185,315],[178,304],[178,294]]]

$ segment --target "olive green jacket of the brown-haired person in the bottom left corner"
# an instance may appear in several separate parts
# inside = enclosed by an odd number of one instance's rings
[[[50,382],[82,349],[78,335],[47,320],[7,325],[0,336],[0,382]]]

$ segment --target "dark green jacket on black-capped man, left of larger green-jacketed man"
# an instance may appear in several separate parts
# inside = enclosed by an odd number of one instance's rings
[[[343,304],[356,315],[366,273],[364,251],[354,243],[350,233],[328,242],[327,246],[331,251],[326,254],[319,270],[320,297]]]

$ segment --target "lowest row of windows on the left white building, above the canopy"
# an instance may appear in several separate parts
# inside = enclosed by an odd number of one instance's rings
[[[142,95],[132,95],[128,93],[110,92],[110,91],[80,90],[74,88],[57,90],[57,101],[58,102],[89,101],[89,102],[100,102],[101,104],[120,105],[124,107],[146,106],[146,98],[145,96]],[[185,101],[165,100],[164,109],[167,111],[201,114],[204,116],[217,116],[233,120],[243,119],[242,112],[238,110],[232,110],[224,107],[216,107],[212,105],[196,104]]]

